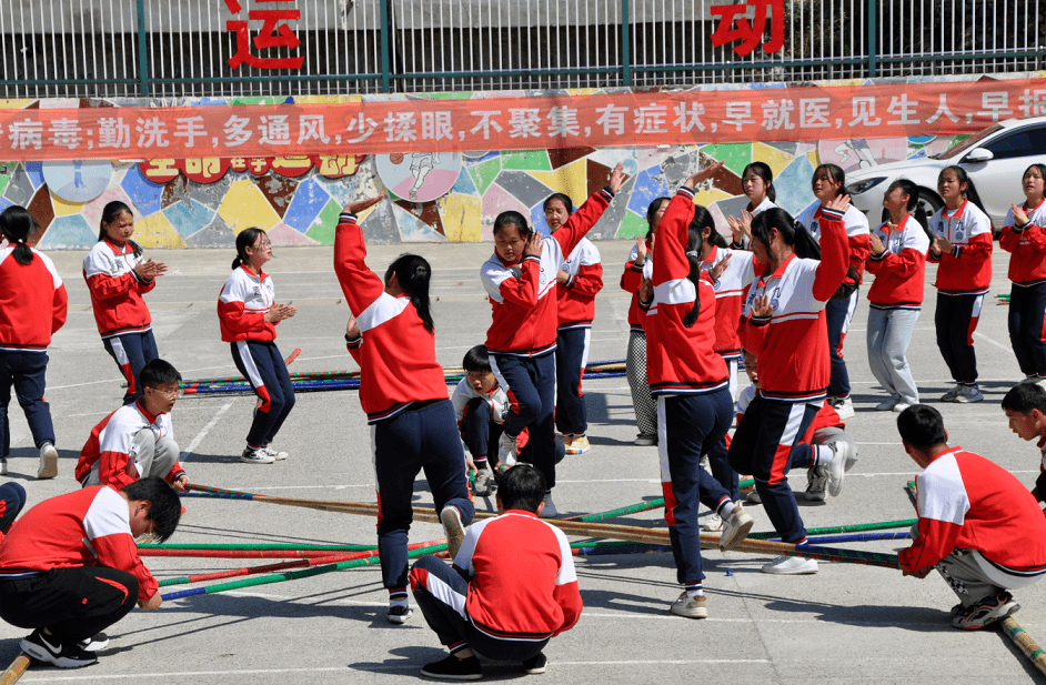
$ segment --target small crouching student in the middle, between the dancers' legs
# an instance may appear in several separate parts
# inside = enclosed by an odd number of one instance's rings
[[[454,389],[451,402],[454,403],[461,441],[465,451],[472,455],[472,466],[475,467],[473,493],[489,497],[496,487],[493,469],[511,465],[497,463],[497,441],[504,431],[509,396],[491,370],[486,345],[469,350],[461,365],[465,370],[465,377]]]

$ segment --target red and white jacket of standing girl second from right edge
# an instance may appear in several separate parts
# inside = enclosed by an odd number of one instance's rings
[[[988,292],[992,283],[992,220],[970,202],[963,200],[954,212],[942,206],[929,218],[929,228],[948,239],[952,252],[934,256],[927,254],[937,266],[938,292],[948,295],[974,295]]]

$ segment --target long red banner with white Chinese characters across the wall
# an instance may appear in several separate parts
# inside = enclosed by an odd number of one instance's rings
[[[338,104],[0,110],[0,159],[293,158],[973,133],[1046,79]]]

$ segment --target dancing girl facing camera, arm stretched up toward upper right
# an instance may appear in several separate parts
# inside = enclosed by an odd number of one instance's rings
[[[494,254],[480,269],[492,318],[486,333],[491,369],[509,394],[499,461],[512,465],[524,447],[517,437],[527,429],[530,460],[545,476],[549,493],[544,516],[555,517],[555,349],[559,302],[555,274],[574,251],[624,181],[617,164],[607,188],[594,193],[555,233],[542,240],[519,212],[494,220]]]

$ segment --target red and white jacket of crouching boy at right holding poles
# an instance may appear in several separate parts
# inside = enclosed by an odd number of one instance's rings
[[[980,552],[989,575],[1046,573],[1046,517],[1028,488],[1002,466],[949,447],[916,476],[915,487],[918,537],[901,551],[902,568],[933,566],[959,547]]]

